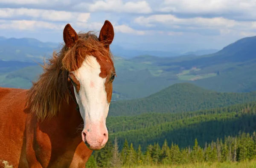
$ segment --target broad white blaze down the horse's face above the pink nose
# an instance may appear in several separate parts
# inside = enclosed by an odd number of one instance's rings
[[[80,82],[79,93],[75,90],[75,96],[84,126],[105,122],[109,109],[105,91],[106,78],[99,77],[101,70],[96,57],[87,56],[81,67],[72,73]]]

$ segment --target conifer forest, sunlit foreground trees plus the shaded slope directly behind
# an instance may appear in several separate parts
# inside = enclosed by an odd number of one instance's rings
[[[110,117],[108,125],[111,122],[107,145],[93,152],[86,167],[231,164],[256,159],[256,102]]]

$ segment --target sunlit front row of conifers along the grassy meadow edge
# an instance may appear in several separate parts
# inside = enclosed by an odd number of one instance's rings
[[[224,137],[203,146],[197,139],[193,146],[180,148],[175,143],[163,145],[157,142],[147,146],[146,151],[141,145],[135,150],[133,143],[125,140],[119,151],[118,140],[109,141],[105,148],[94,151],[86,167],[122,167],[139,165],[180,165],[196,162],[240,162],[256,158],[256,133],[239,132],[235,137]]]

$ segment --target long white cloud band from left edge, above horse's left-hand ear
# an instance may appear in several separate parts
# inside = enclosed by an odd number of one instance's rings
[[[1,8],[0,17],[2,18],[17,18],[17,17],[31,17],[33,19],[39,18],[50,21],[74,21],[87,22],[90,18],[90,13],[55,11],[44,9],[26,9],[26,8]]]

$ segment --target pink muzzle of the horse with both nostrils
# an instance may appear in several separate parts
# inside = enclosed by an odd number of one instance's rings
[[[82,131],[82,140],[89,149],[100,150],[108,142],[108,130],[107,128],[93,129],[93,127],[91,127],[91,129],[84,129]]]

